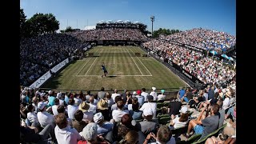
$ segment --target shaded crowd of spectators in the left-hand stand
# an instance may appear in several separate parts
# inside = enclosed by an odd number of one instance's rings
[[[68,34],[44,34],[20,40],[20,84],[30,86],[50,68],[88,43]]]

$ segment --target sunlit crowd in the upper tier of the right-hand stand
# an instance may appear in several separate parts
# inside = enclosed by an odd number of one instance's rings
[[[166,40],[196,46],[203,50],[215,50],[219,54],[232,48],[236,38],[225,32],[194,28],[166,36]]]

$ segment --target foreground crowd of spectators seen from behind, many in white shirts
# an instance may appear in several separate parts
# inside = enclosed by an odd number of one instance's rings
[[[224,88],[210,84],[202,90],[193,91],[188,87],[184,92],[181,88],[177,98],[170,99],[160,98],[160,94],[165,95],[165,90],[161,90],[154,100],[151,93],[155,90],[156,87],[152,87],[151,92],[146,92],[142,88],[132,94],[127,90],[121,93],[118,90],[105,92],[102,88],[98,94],[90,94],[90,91],[84,94],[82,91],[65,93],[21,87],[20,142],[175,144],[178,140],[172,134],[173,129],[188,126],[184,134],[185,138],[189,138],[193,131],[194,134],[202,134],[204,138],[223,126],[227,118],[230,118],[232,125],[226,126],[222,134],[235,138],[236,89],[234,85]],[[140,98],[141,100],[138,100]],[[197,119],[190,118],[191,105],[182,106],[181,100],[185,98],[203,102]],[[158,121],[160,113],[157,107],[158,102],[162,100],[170,102],[166,111],[170,116],[168,125],[162,125]],[[208,113],[210,113],[209,116],[207,116]],[[199,127],[200,130],[198,130]],[[130,138],[130,133],[134,138]]]

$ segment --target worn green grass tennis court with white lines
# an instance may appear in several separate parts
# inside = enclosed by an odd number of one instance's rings
[[[134,53],[146,54],[138,46],[96,46],[86,53],[94,57],[70,62],[57,77],[42,87],[58,90],[138,90],[145,87],[158,90],[186,86],[178,76],[161,62],[151,57],[136,57]],[[102,78],[102,62],[107,77]]]

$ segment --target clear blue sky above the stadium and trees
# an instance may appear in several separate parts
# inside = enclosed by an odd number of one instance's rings
[[[121,19],[142,22],[151,31],[150,16],[154,15],[154,30],[202,27],[236,35],[235,0],[20,0],[20,6],[26,18],[37,12],[54,14],[60,30]]]

